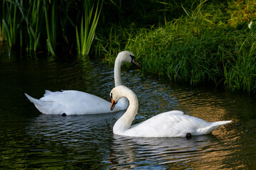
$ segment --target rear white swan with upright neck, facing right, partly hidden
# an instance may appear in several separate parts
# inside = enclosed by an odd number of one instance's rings
[[[123,62],[132,62],[139,64],[135,61],[134,54],[129,51],[119,52],[114,62],[114,84],[115,86],[122,85],[121,79],[121,65]],[[26,94],[29,101],[34,103],[38,111],[50,115],[85,115],[97,113],[110,113],[122,111],[129,106],[127,98],[122,98],[118,103],[117,108],[110,111],[111,103],[104,99],[87,94],[82,91],[66,90],[66,91],[48,91],[40,99],[33,98]]]

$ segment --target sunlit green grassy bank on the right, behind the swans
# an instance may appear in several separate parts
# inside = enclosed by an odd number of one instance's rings
[[[183,8],[183,15],[164,26],[112,26],[96,50],[110,63],[119,51],[130,50],[144,74],[255,94],[256,21],[249,28],[245,16],[233,15],[234,6],[201,1],[193,10]],[[253,18],[252,12],[244,11]]]

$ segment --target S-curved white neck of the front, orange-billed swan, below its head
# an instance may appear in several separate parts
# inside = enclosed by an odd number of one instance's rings
[[[117,135],[129,129],[139,108],[138,98],[134,92],[128,94],[124,91],[123,95],[123,97],[128,99],[129,107],[127,108],[127,111],[124,113],[124,115],[122,115],[122,117],[119,118],[114,124],[113,132]]]

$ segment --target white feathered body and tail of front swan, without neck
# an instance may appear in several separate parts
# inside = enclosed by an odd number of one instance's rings
[[[218,122],[218,127],[225,125]],[[186,137],[186,133],[191,135],[208,134],[218,128],[214,123],[190,115],[175,113],[175,111],[161,113],[145,120],[138,125],[126,130],[124,135],[137,137]]]

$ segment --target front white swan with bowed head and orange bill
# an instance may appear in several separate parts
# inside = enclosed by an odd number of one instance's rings
[[[114,124],[113,132],[115,135],[130,137],[186,137],[190,135],[206,135],[221,125],[231,123],[231,120],[208,123],[200,118],[184,115],[182,111],[169,111],[155,115],[137,125],[132,125],[132,121],[139,107],[138,98],[132,90],[126,86],[114,87],[110,92],[112,102],[110,110],[114,109],[119,98],[124,97],[128,99],[129,107],[124,115]]]

